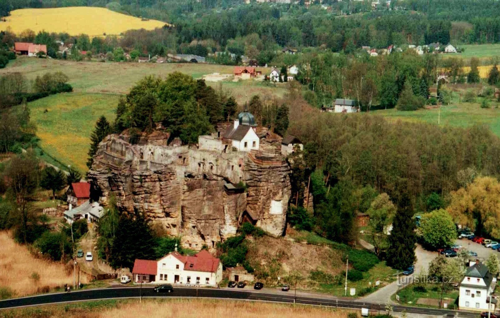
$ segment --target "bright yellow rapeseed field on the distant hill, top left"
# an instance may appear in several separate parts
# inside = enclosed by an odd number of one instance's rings
[[[34,32],[66,32],[70,35],[87,34],[91,37],[119,35],[127,30],[161,28],[164,22],[141,21],[105,8],[68,7],[52,9],[19,9],[10,12],[6,22],[0,22],[0,31],[10,27],[15,34],[26,29]]]

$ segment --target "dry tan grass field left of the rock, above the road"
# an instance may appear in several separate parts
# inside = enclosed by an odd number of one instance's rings
[[[34,257],[24,245],[19,245],[9,232],[0,232],[0,287],[7,287],[13,296],[24,296],[43,289],[72,283],[72,272],[67,273],[64,265]],[[33,272],[39,279],[31,278]],[[82,276],[82,282],[85,278]],[[48,290],[47,290],[48,291]]]

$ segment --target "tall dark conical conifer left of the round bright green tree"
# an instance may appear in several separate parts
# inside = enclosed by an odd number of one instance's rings
[[[415,261],[415,221],[411,202],[402,194],[399,208],[392,221],[392,231],[388,237],[387,264],[396,269],[406,269]]]

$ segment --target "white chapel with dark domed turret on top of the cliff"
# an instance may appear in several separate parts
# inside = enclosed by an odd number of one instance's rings
[[[258,150],[259,138],[255,133],[255,118],[246,110],[238,114],[232,127],[222,135],[222,141],[230,143],[238,151]]]

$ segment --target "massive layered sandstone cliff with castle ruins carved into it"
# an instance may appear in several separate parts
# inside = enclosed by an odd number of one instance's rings
[[[109,135],[99,144],[88,180],[103,204],[114,195],[120,210],[144,213],[194,249],[212,249],[234,235],[243,218],[282,234],[290,196],[283,157],[235,152],[216,139],[213,146],[175,147],[166,146],[166,135],[149,136],[131,145],[126,134]],[[245,189],[233,187],[240,182]]]

